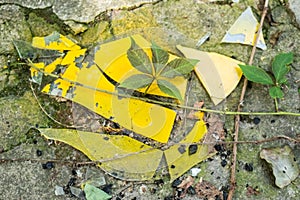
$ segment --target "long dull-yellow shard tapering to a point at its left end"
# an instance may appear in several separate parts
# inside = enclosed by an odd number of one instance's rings
[[[80,150],[110,175],[126,180],[150,180],[163,152],[127,136],[82,132],[71,129],[39,129],[47,139]]]

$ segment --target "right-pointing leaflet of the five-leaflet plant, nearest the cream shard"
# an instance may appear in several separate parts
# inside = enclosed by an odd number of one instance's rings
[[[169,62],[161,72],[161,76],[174,78],[190,73],[199,60],[176,58]]]

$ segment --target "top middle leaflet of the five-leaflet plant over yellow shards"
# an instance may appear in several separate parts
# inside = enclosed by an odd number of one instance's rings
[[[154,69],[155,72],[158,73],[168,62],[169,54],[167,51],[160,48],[160,46],[158,46],[154,42],[152,42],[151,52],[152,52],[152,62],[154,65]]]

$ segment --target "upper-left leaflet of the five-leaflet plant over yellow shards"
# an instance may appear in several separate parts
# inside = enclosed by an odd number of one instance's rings
[[[127,58],[131,65],[143,73],[152,74],[152,64],[148,55],[132,38],[130,39],[131,47],[127,51]]]

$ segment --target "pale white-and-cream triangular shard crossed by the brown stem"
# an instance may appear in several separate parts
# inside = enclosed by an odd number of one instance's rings
[[[248,7],[234,22],[231,28],[226,32],[222,39],[222,43],[240,43],[246,45],[254,45],[259,23],[253,15],[250,7]],[[256,47],[266,50],[267,46],[263,34],[259,34]]]

